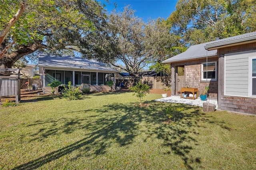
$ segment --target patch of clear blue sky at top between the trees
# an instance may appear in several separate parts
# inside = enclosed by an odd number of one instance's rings
[[[170,14],[176,10],[175,6],[178,0],[109,0],[109,3],[104,0],[98,0],[102,4],[106,4],[106,10],[111,12],[114,9],[114,2],[117,4],[117,11],[122,12],[124,6],[130,4],[133,10],[136,10],[135,15],[143,18],[144,21],[157,18],[168,18]]]

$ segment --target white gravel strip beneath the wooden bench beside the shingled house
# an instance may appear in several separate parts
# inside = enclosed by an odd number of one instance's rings
[[[194,105],[194,106],[200,106],[203,107],[203,103],[206,101],[200,100],[200,98],[192,100],[192,99],[184,99],[180,98],[180,96],[170,96],[167,98],[160,98],[156,99],[158,102],[168,102],[168,103],[182,103],[182,104],[188,104],[188,105]],[[216,109],[218,109],[218,102],[217,100],[207,100],[209,103],[215,104]]]

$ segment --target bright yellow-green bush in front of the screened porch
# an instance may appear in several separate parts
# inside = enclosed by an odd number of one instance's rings
[[[82,93],[79,91],[78,88],[74,88],[71,86],[71,82],[68,82],[68,87],[64,85],[64,91],[62,93],[63,97],[68,99],[68,100],[78,100],[81,99]]]

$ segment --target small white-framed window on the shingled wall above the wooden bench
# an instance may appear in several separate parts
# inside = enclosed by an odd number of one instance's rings
[[[208,62],[208,63],[202,63],[201,64],[201,80],[202,81],[216,81],[217,80],[217,62]]]

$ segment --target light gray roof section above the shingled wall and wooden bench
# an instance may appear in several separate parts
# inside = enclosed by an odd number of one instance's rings
[[[206,45],[206,43],[192,45],[185,52],[171,57],[170,59],[167,59],[165,61],[162,61],[162,63],[173,63],[178,61],[200,59],[206,56],[212,57],[217,55],[217,50],[207,51],[206,49],[204,49],[204,45]]]

